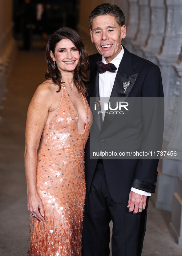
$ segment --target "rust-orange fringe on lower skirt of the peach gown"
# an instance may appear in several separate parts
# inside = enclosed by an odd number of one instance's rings
[[[67,206],[67,209],[69,206]],[[29,250],[28,256],[81,256],[83,206],[75,205],[69,210],[70,219],[65,220],[64,215],[59,226],[54,223],[54,216],[44,223],[37,222],[30,215]],[[47,235],[49,233],[49,235]],[[39,238],[39,239],[38,239]]]

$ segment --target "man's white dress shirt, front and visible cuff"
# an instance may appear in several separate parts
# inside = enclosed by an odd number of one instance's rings
[[[99,96],[100,96],[100,98],[104,97],[104,101],[109,102],[109,98],[111,96],[111,92],[112,92],[112,88],[113,88],[116,74],[118,71],[118,67],[121,62],[121,59],[123,58],[123,54],[124,54],[124,49],[121,46],[121,51],[119,52],[119,54],[110,62],[110,63],[113,63],[115,65],[115,67],[117,68],[115,70],[115,73],[112,73],[109,71],[106,71],[103,74],[99,73]],[[102,56],[102,62],[104,64],[107,63],[103,56]],[[100,104],[101,104],[101,110],[102,110],[102,107],[103,107],[102,102],[100,102]],[[104,119],[104,111],[102,111],[102,112],[103,112],[102,119]],[[140,189],[135,189],[133,187],[131,187],[131,191],[133,191],[137,194],[140,194],[142,196],[151,196],[151,193],[140,190]]]

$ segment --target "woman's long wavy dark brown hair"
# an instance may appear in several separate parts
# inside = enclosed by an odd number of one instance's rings
[[[70,39],[79,51],[80,59],[75,68],[73,79],[79,91],[81,91],[82,94],[87,97],[87,90],[85,87],[85,83],[88,82],[90,78],[90,72],[88,71],[88,54],[79,33],[77,33],[72,28],[67,28],[67,27],[59,28],[57,31],[55,31],[51,35],[51,37],[47,41],[47,46],[46,46],[47,71],[45,74],[45,78],[52,79],[54,84],[59,86],[59,90],[57,92],[60,92],[61,84],[62,84],[61,82],[62,76],[56,65],[56,62],[54,67],[54,62],[51,59],[50,51],[52,51],[53,54],[55,54],[55,47],[57,43],[59,43],[62,39],[65,39],[65,38]]]

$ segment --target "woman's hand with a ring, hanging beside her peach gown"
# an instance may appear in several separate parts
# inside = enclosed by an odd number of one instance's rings
[[[39,222],[44,221],[44,209],[42,205],[42,201],[38,194],[35,194],[34,196],[30,196],[28,194],[28,203],[27,208],[30,211],[30,214],[37,215],[34,219]]]

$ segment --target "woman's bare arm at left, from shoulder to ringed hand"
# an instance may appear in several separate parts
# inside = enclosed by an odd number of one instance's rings
[[[36,190],[37,150],[48,111],[51,107],[51,91],[46,84],[40,85],[30,102],[25,133],[25,174],[27,185],[27,207],[30,214],[36,214],[35,220],[44,220],[44,210]]]

